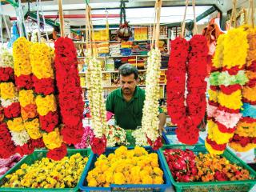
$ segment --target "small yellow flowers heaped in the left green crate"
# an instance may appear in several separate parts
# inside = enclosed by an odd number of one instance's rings
[[[73,188],[87,161],[81,154],[74,154],[60,161],[42,158],[31,166],[24,163],[13,174],[6,175],[8,181],[2,187]]]

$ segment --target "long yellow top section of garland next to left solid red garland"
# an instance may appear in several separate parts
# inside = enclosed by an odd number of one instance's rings
[[[54,78],[50,49],[45,43],[35,42],[30,47],[30,64],[37,78]]]

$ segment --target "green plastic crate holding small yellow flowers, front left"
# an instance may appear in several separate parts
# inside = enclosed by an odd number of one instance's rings
[[[12,167],[10,170],[6,172],[6,174],[3,175],[3,177],[0,179],[0,191],[78,191],[79,186],[75,186],[74,188],[2,188],[1,186],[4,185],[5,182],[7,182],[6,175],[7,174],[13,174],[16,170],[18,170],[23,163],[26,163],[28,165],[33,164],[35,161],[40,160],[42,158],[46,158],[48,150],[35,150],[33,154],[29,154],[26,157],[22,158],[20,162],[18,162],[14,167]],[[91,150],[90,149],[68,149],[67,150],[67,157],[70,157],[73,154],[82,154],[82,157],[89,157]],[[85,170],[85,169],[84,169]],[[78,181],[79,183],[79,181]]]

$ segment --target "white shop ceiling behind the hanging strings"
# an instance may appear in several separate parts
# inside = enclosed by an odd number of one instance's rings
[[[154,0],[126,0],[126,20],[131,25],[150,25],[154,23],[154,2]],[[182,0],[163,0],[160,22],[162,24],[181,22],[185,9],[184,2]],[[242,2],[238,1],[238,5]],[[85,26],[85,0],[63,0],[62,3],[66,24],[77,27]],[[28,3],[23,2],[22,4],[24,14],[26,14],[29,7]],[[216,10],[229,10],[232,6],[232,0],[197,0],[196,4],[196,17],[202,17],[198,24],[202,24],[209,22],[210,18],[216,16]],[[92,0],[90,6],[94,26],[106,25],[106,15],[110,25],[119,23],[120,0]],[[4,5],[2,10],[3,14],[9,15],[11,18],[16,17],[15,9],[10,4]],[[30,1],[30,12],[36,10],[36,2]],[[58,22],[58,0],[42,1],[42,10],[47,19]],[[206,17],[204,17],[205,14]],[[188,7],[186,19],[193,19],[192,6]]]

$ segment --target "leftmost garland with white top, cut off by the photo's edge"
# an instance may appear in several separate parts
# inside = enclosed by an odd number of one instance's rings
[[[15,146],[4,120],[20,115],[17,93],[14,90],[14,59],[9,50],[0,52],[0,158],[15,154]],[[7,90],[6,90],[7,88]],[[15,97],[16,96],[16,97]],[[6,116],[6,118],[5,118]]]

